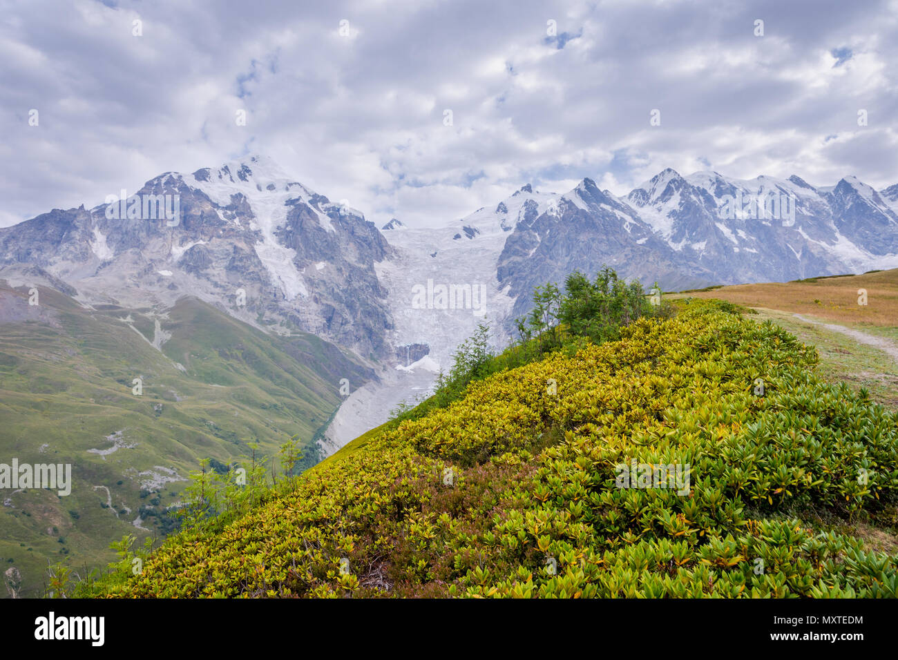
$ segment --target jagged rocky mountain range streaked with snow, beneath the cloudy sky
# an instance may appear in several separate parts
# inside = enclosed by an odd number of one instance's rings
[[[431,354],[445,366],[476,319],[492,321],[499,341],[534,286],[574,268],[607,264],[671,290],[898,265],[898,185],[876,191],[850,176],[814,187],[666,169],[622,198],[590,179],[563,194],[525,185],[440,227],[394,218],[380,230],[262,156],[165,172],[135,195],[180,198],[178,224],[114,217],[110,203],[54,209],[0,229],[0,277],[61,283],[85,304],[165,309],[191,295],[261,330],[311,332],[386,364]],[[783,217],[747,203],[722,213],[729,200],[763,196],[783,200]],[[486,286],[484,309],[417,309],[412,289],[428,280]]]

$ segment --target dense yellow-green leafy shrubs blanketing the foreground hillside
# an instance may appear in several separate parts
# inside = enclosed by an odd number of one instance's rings
[[[713,303],[622,334],[472,383],[109,593],[898,595],[893,557],[783,515],[894,499],[894,414]],[[632,460],[688,464],[688,492],[617,488]]]

